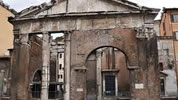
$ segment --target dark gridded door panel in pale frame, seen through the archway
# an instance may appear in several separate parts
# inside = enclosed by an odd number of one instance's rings
[[[105,96],[116,95],[115,75],[105,75]]]

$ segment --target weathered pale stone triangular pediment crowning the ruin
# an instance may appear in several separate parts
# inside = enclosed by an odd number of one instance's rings
[[[44,6],[44,8],[41,7],[43,6],[40,5],[39,7],[37,7],[39,8],[39,10],[32,9],[28,11],[30,13],[26,13],[30,16],[39,16],[76,12],[129,12],[141,10],[141,6],[127,0],[57,0],[53,3],[50,2],[50,4],[47,4],[46,6]],[[27,14],[23,14],[23,16],[26,16]]]

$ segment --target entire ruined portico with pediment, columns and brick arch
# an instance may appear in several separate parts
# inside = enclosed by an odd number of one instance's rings
[[[160,100],[156,14],[127,0],[52,0],[23,10],[10,20],[15,36],[11,99],[32,96],[34,64],[41,67],[41,100],[48,100],[55,73],[51,59],[57,55],[50,36],[64,33],[64,100]],[[32,48],[34,34],[42,34],[40,51]]]

